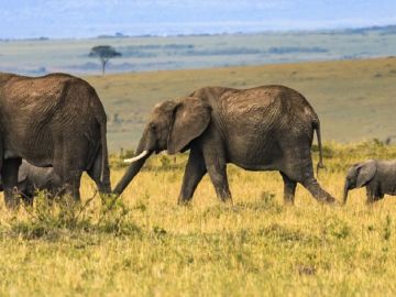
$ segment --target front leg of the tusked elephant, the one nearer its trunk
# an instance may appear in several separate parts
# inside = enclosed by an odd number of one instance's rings
[[[178,198],[178,202],[180,205],[187,204],[193,199],[194,191],[206,173],[207,168],[205,166],[202,152],[195,147],[191,148],[183,177],[180,195]]]

